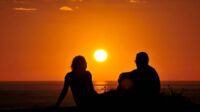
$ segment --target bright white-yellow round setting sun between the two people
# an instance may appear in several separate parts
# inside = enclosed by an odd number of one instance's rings
[[[107,53],[103,49],[96,50],[94,53],[94,58],[98,62],[104,62],[107,58]]]

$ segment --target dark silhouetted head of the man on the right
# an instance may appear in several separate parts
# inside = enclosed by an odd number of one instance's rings
[[[149,64],[148,54],[146,52],[137,53],[135,62],[138,69],[147,67]]]

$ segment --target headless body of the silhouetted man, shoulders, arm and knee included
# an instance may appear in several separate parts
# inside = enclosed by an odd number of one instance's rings
[[[135,95],[149,96],[160,93],[160,79],[156,70],[151,66],[143,70],[135,69],[120,74],[118,83],[118,90],[129,89]]]

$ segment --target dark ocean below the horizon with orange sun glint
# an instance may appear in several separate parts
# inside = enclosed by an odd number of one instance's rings
[[[103,93],[116,89],[117,82],[93,82],[95,90]],[[55,105],[63,88],[62,81],[0,82],[0,109],[45,108]],[[162,81],[161,92],[181,93],[200,104],[200,81]],[[61,107],[75,106],[71,90]]]

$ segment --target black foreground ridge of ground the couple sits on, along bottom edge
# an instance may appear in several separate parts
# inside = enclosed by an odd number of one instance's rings
[[[26,109],[0,109],[0,112],[85,112],[85,111],[158,111],[158,112],[200,112],[200,105],[192,103],[188,98],[181,94],[160,94],[157,98],[136,99],[137,103],[131,98],[119,98],[114,95],[115,91],[109,91],[105,99],[101,99],[98,105],[88,107],[46,107],[46,108],[26,108]],[[118,99],[116,98],[118,97]]]

